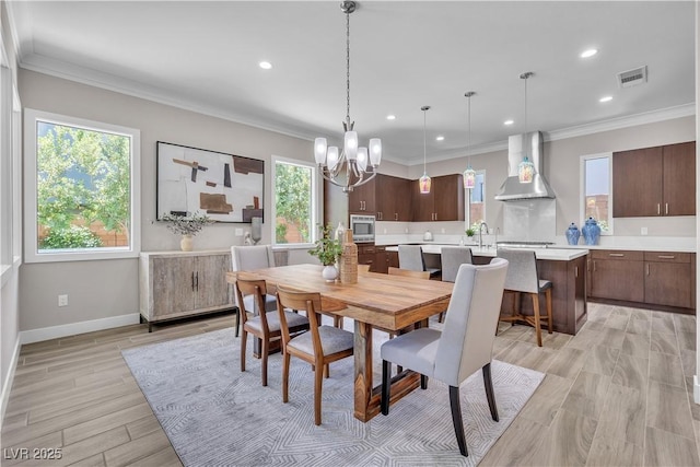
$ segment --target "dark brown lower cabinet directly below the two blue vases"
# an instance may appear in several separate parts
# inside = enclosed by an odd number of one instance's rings
[[[644,253],[591,250],[591,296],[644,301]]]

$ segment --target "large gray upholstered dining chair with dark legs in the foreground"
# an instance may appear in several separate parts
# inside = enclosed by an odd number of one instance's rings
[[[493,258],[483,266],[462,265],[447,307],[444,330],[420,328],[382,345],[382,413],[389,413],[390,364],[421,374],[421,387],[434,377],[450,386],[452,421],[462,455],[467,443],[462,421],[459,385],[481,369],[491,418],[499,421],[493,384],[491,352],[498,324],[503,284],[509,264]]]

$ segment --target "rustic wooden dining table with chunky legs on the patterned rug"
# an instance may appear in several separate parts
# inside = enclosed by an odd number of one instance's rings
[[[354,417],[363,422],[380,413],[381,385],[373,384],[372,330],[399,334],[447,310],[453,283],[377,272],[359,272],[357,283],[327,282],[323,266],[293,265],[245,271],[264,279],[269,288],[282,284],[318,292],[324,313],[354,322]],[[226,281],[235,283],[236,272]],[[402,371],[392,378],[390,404],[417,388],[420,375]]]

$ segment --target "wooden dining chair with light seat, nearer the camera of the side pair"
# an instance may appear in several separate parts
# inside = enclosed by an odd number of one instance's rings
[[[304,310],[311,330],[292,336],[284,308]],[[314,367],[314,423],[320,424],[323,376],[329,377],[328,364],[353,354],[354,336],[334,326],[320,326],[320,294],[295,292],[277,287],[277,310],[282,328],[282,402],[289,401],[289,365],[291,357],[308,362]]]

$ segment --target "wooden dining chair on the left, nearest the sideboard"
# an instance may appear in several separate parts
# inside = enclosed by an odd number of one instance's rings
[[[246,308],[244,296],[250,296],[257,304],[258,310],[262,310],[265,296],[267,295],[267,284],[264,280],[245,278],[244,275],[238,275],[234,287],[236,296],[240,303],[243,304],[241,308],[241,329],[243,332],[241,337],[241,372],[245,371],[245,349],[249,332],[260,339],[260,380],[262,386],[267,386],[267,360],[270,353],[270,340],[282,336],[277,306],[275,311],[258,313],[248,317],[247,313],[249,311]],[[288,310],[283,314],[284,324],[290,335],[308,330],[308,319],[305,316]]]

